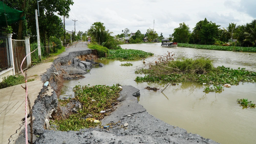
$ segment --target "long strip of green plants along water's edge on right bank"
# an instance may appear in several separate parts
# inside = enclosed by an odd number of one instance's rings
[[[222,51],[243,51],[256,52],[256,47],[233,47],[233,46],[216,46],[216,45],[194,45],[178,43],[178,47],[208,49],[208,50],[222,50]]]

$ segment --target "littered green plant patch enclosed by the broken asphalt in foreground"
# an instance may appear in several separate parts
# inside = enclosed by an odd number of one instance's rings
[[[106,85],[94,85],[92,87],[77,85],[73,88],[75,100],[82,104],[82,109],[80,109],[76,114],[72,114],[66,120],[55,120],[54,124],[58,126],[60,131],[78,131],[82,128],[95,127],[100,125],[100,123],[94,123],[86,120],[86,116],[91,114],[96,120],[101,120],[106,115],[105,113],[100,113],[100,111],[110,109],[111,103],[116,102],[119,97],[119,91],[121,89],[118,87],[119,84],[113,86]],[[62,100],[61,104],[66,105],[68,100]]]

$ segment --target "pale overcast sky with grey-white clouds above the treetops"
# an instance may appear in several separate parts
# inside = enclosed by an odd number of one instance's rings
[[[66,30],[87,31],[94,22],[103,22],[114,35],[129,28],[131,32],[140,30],[145,34],[153,28],[164,37],[169,37],[179,23],[185,22],[190,30],[200,20],[207,18],[227,27],[228,23],[238,25],[256,19],[255,0],[73,0],[69,18],[65,20]],[[62,17],[63,20],[63,17]]]

